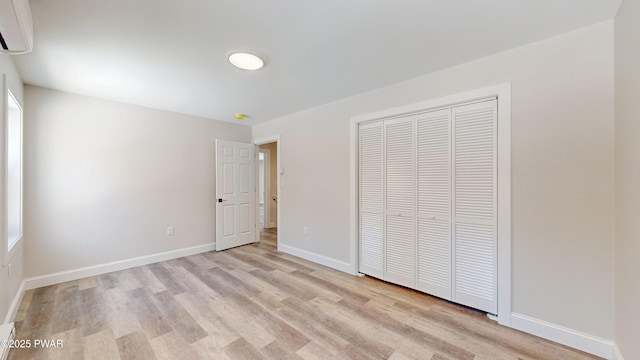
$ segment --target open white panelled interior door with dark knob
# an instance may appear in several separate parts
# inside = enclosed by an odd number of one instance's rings
[[[256,241],[254,146],[216,139],[216,250]]]

